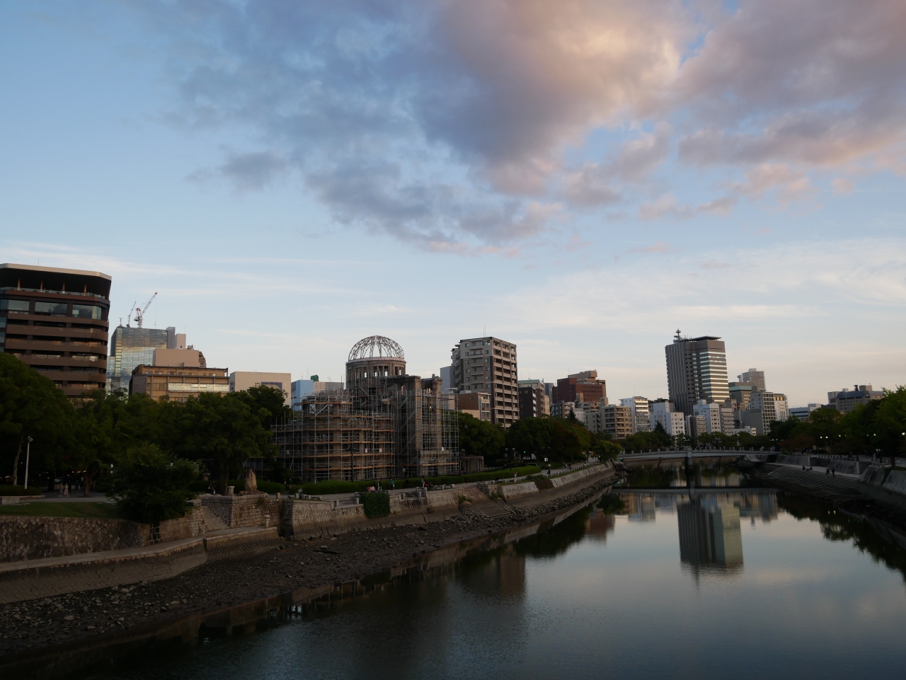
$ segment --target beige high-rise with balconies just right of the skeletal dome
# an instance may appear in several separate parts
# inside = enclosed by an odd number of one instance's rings
[[[491,422],[509,427],[519,419],[516,345],[488,336],[459,340],[450,352],[450,373],[458,390],[491,395]]]

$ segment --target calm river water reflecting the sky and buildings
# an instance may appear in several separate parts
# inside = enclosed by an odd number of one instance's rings
[[[92,677],[906,675],[903,551],[731,470],[666,472],[495,552]]]

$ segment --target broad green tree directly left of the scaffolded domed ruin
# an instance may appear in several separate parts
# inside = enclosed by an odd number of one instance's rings
[[[189,459],[211,459],[221,493],[230,473],[238,474],[249,458],[270,458],[271,433],[252,413],[241,392],[202,394],[171,411],[177,445],[174,452]]]

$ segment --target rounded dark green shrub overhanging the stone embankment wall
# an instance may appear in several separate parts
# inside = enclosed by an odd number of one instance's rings
[[[187,501],[195,496],[188,487],[196,477],[194,463],[155,445],[143,445],[126,453],[111,477],[108,495],[117,499],[117,510],[130,520],[173,520],[186,514]]]

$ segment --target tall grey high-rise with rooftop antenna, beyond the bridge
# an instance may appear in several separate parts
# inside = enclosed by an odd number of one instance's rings
[[[724,404],[729,398],[727,350],[715,336],[683,338],[677,330],[667,355],[670,401],[687,416],[699,399]]]

